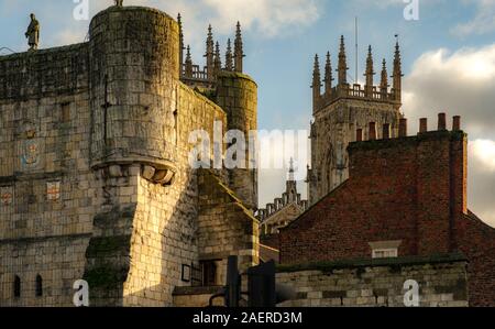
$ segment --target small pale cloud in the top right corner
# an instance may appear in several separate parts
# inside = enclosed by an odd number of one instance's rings
[[[476,14],[470,22],[453,28],[452,33],[458,36],[468,36],[495,30],[495,0],[465,0],[464,2],[476,6]]]

